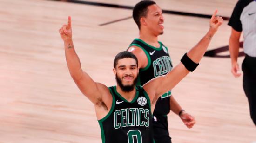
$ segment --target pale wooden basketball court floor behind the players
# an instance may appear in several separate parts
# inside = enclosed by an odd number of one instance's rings
[[[134,6],[139,0],[91,0]],[[156,0],[162,9],[229,17],[237,0]],[[84,71],[95,80],[115,85],[113,60],[127,49],[138,29],[132,10],[52,0],[0,0],[0,143],[101,143],[94,106],[69,75],[58,29],[73,22],[73,39]],[[174,65],[209,29],[209,19],[164,14],[159,40],[168,46]],[[227,21],[209,50],[228,45]],[[241,39],[242,41],[243,39]],[[229,52],[220,53],[223,55]],[[243,57],[238,59],[240,65]],[[204,57],[195,72],[173,89],[173,96],[192,114],[187,129],[168,115],[173,143],[252,143],[256,128],[229,58]]]

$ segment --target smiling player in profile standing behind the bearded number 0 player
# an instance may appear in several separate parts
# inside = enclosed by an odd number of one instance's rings
[[[162,9],[154,1],[142,0],[133,9],[133,19],[139,27],[140,37],[129,45],[128,51],[138,58],[139,85],[152,78],[162,76],[173,68],[168,48],[158,42],[163,34],[164,18]],[[195,124],[195,118],[186,113],[168,91],[158,98],[153,113],[153,130],[155,143],[171,143],[168,132],[167,114],[172,110],[179,115],[188,128]]]

